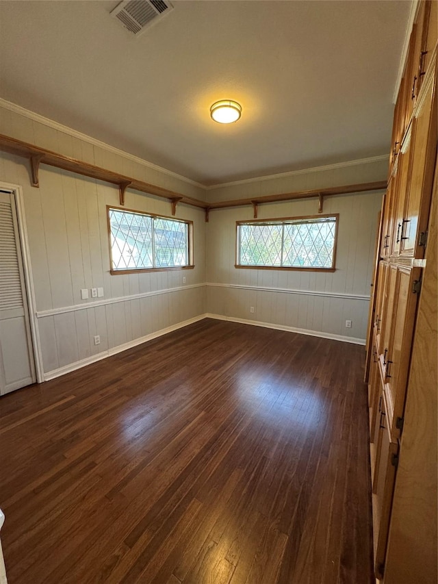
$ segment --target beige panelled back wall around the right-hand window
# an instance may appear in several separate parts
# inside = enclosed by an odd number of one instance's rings
[[[209,201],[339,186],[385,179],[387,162],[354,164],[272,181],[209,191]],[[253,218],[252,207],[211,211],[207,230],[207,312],[364,340],[374,242],[382,192],[327,197],[324,213],[339,213],[336,271],[242,270],[235,264],[235,222]],[[258,217],[318,214],[317,199],[259,205]],[[254,314],[250,307],[255,307]],[[345,321],[352,320],[346,329]]]

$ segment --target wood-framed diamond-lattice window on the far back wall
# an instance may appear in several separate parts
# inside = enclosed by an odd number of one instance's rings
[[[237,221],[236,268],[335,270],[339,215]]]

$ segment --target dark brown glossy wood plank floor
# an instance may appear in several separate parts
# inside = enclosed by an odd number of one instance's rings
[[[203,320],[0,398],[10,584],[370,584],[364,348]]]

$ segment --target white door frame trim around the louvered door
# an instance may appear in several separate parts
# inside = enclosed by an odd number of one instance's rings
[[[25,276],[27,314],[29,314],[31,348],[33,352],[32,357],[34,357],[36,381],[37,383],[42,383],[44,381],[44,368],[42,365],[40,331],[38,329],[38,319],[36,318],[34,278],[32,276],[30,261],[29,238],[27,237],[23,188],[20,185],[0,181],[0,189],[12,194],[15,200],[16,216],[18,221],[18,238],[20,240],[21,259],[23,260],[23,272]]]

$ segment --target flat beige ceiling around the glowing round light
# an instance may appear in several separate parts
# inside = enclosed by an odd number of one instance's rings
[[[0,97],[206,186],[389,151],[410,1],[172,3],[0,1]]]

